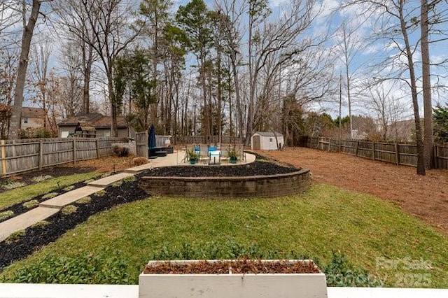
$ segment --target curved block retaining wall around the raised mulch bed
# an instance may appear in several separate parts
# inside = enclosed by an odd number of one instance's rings
[[[293,173],[248,177],[142,177],[140,186],[151,195],[172,197],[279,197],[308,190],[309,169]]]

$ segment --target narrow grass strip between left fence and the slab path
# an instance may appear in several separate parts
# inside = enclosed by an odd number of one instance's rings
[[[0,208],[13,206],[14,204],[22,203],[23,201],[28,201],[29,199],[32,199],[33,197],[36,197],[39,194],[46,194],[48,192],[52,192],[52,190],[57,190],[59,189],[59,187],[57,186],[58,182],[61,187],[66,187],[67,185],[84,181],[97,175],[98,175],[97,173],[80,173],[69,176],[61,176],[45,180],[41,183],[37,183],[34,185],[27,185],[21,187],[20,192],[16,190],[3,192],[0,195]]]

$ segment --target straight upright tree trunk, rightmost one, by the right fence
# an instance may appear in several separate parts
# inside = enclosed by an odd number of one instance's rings
[[[425,169],[431,168],[433,161],[433,105],[431,100],[430,61],[428,45],[428,0],[421,0],[421,62],[424,113],[423,158]]]

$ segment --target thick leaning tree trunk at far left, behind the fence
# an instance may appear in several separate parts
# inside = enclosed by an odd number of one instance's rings
[[[33,7],[31,15],[29,16],[28,24],[23,30],[22,36],[22,51],[20,52],[19,68],[17,73],[17,83],[15,84],[14,106],[13,113],[10,118],[9,125],[9,139],[20,139],[20,121],[22,115],[23,92],[25,89],[25,78],[27,76],[28,68],[28,54],[31,45],[31,38],[33,38],[34,26],[41,9],[41,0],[33,0]],[[25,21],[25,15],[24,15]]]

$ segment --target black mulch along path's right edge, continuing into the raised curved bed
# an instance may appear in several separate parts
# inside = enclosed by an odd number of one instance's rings
[[[138,201],[149,197],[139,187],[143,176],[253,176],[274,175],[290,173],[297,168],[281,166],[271,162],[253,162],[237,166],[167,166],[139,173],[132,182],[123,182],[120,186],[106,187],[106,194],[102,197],[90,196],[92,201],[88,204],[73,204],[78,209],[75,213],[64,215],[61,212],[48,218],[49,225],[29,227],[25,236],[19,240],[8,243],[0,242],[0,271],[16,260],[21,260],[34,253],[39,248],[51,243],[62,236],[66,231],[85,222],[90,215],[94,215],[119,204]],[[41,197],[41,196],[40,196]],[[37,199],[37,198],[34,198]]]

